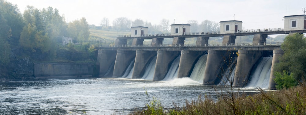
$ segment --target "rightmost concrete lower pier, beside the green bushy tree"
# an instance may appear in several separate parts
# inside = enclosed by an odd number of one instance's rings
[[[270,74],[270,81],[269,81],[269,89],[270,90],[276,90],[275,88],[275,82],[274,82],[274,78],[275,76],[273,75],[274,73],[274,66],[275,63],[279,62],[279,57],[282,56],[284,54],[284,51],[282,50],[273,50],[273,59],[272,59],[272,66],[271,66],[271,74]]]

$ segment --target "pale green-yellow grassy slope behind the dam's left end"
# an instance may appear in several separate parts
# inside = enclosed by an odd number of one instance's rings
[[[90,35],[96,37],[100,40],[114,40],[117,35],[129,35],[131,32],[117,32],[117,31],[108,31],[108,30],[98,30],[98,29],[89,29]]]

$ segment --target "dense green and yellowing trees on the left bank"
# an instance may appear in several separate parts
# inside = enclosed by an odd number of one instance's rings
[[[27,6],[21,13],[17,5],[0,0],[0,66],[9,63],[10,51],[15,47],[22,48],[26,55],[33,52],[52,55],[62,36],[88,40],[88,22],[82,17],[67,23],[64,16],[52,7],[37,9]]]

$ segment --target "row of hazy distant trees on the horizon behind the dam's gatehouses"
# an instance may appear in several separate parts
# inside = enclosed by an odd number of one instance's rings
[[[190,32],[216,32],[220,31],[220,25],[214,21],[205,20],[198,23],[196,20],[189,20],[187,24],[190,24]],[[169,33],[170,21],[162,19],[159,25],[152,25],[151,22],[143,21],[141,19],[135,19],[134,21],[126,17],[118,17],[114,19],[113,26],[110,26],[110,21],[107,17],[104,17],[100,26],[102,29],[114,29],[118,31],[129,31],[132,26],[145,26],[149,27],[148,33]]]

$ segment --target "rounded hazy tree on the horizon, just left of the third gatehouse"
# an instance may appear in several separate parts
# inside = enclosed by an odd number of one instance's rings
[[[220,25],[214,21],[205,20],[200,24],[202,32],[217,32],[220,31]]]

